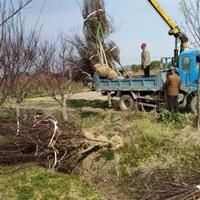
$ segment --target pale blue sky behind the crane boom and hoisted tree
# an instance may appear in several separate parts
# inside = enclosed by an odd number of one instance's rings
[[[172,56],[174,37],[169,27],[153,10],[147,0],[104,0],[107,14],[115,24],[110,36],[120,48],[123,65],[140,63],[140,44],[146,42],[152,60]],[[70,35],[82,32],[82,0],[34,0],[24,11],[27,29],[34,28],[38,18],[42,37],[55,41],[60,32]],[[179,25],[184,23],[180,0],[158,0],[169,16]],[[40,17],[39,17],[40,16]]]

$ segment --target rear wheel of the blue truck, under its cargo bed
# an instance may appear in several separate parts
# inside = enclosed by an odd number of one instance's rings
[[[135,108],[135,101],[130,95],[123,95],[119,100],[119,107],[122,111],[132,111]]]

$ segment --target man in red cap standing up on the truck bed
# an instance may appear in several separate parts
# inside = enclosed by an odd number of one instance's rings
[[[147,50],[147,44],[142,43],[141,44],[141,65],[142,69],[144,70],[144,76],[149,77],[150,76],[150,63],[151,63],[151,58],[150,58],[150,52]]]

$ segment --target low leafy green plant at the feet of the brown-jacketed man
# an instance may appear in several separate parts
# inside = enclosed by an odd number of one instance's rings
[[[180,128],[184,128],[189,124],[189,118],[186,114],[174,113],[166,109],[158,114],[157,121],[164,124],[173,123]]]

